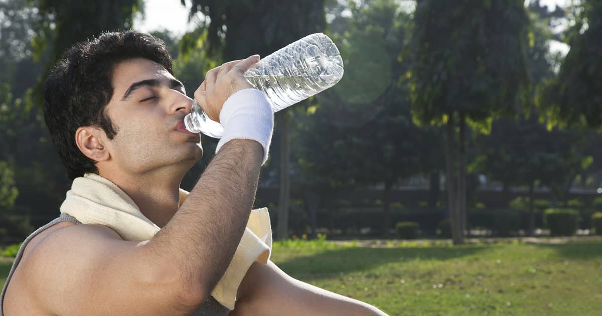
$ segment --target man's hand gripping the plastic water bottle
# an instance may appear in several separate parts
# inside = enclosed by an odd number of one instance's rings
[[[224,102],[235,92],[255,86],[244,78],[244,73],[259,62],[259,55],[244,60],[234,60],[209,70],[205,81],[194,91],[194,99],[199,102],[209,119],[220,122],[220,111]]]

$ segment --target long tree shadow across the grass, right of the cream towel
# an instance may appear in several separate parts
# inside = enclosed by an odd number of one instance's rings
[[[343,248],[320,252],[311,256],[297,256],[276,262],[284,271],[295,274],[338,274],[369,270],[389,262],[405,262],[413,259],[446,260],[474,255],[486,246],[428,247],[428,248]]]

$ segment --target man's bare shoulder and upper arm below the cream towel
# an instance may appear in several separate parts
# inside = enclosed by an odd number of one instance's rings
[[[6,315],[190,315],[198,299],[149,241],[102,225],[61,225],[26,246]],[[13,283],[14,282],[14,283]]]

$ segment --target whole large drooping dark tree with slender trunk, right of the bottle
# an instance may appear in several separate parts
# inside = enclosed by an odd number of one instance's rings
[[[446,126],[454,244],[464,242],[466,229],[467,123],[486,130],[492,117],[517,111],[528,78],[527,25],[521,0],[417,2],[412,113],[418,123]]]

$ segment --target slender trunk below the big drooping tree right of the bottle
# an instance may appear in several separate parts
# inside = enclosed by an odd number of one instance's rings
[[[454,244],[462,244],[464,243],[464,236],[460,234],[460,221],[458,218],[458,205],[456,202],[456,177],[455,177],[455,168],[456,168],[456,155],[453,144],[454,137],[454,123],[453,123],[453,113],[449,114],[447,120],[447,129],[445,130],[447,134],[447,150],[445,151],[445,185],[447,186],[447,208],[449,209],[450,214],[450,222],[452,225],[452,239]]]

